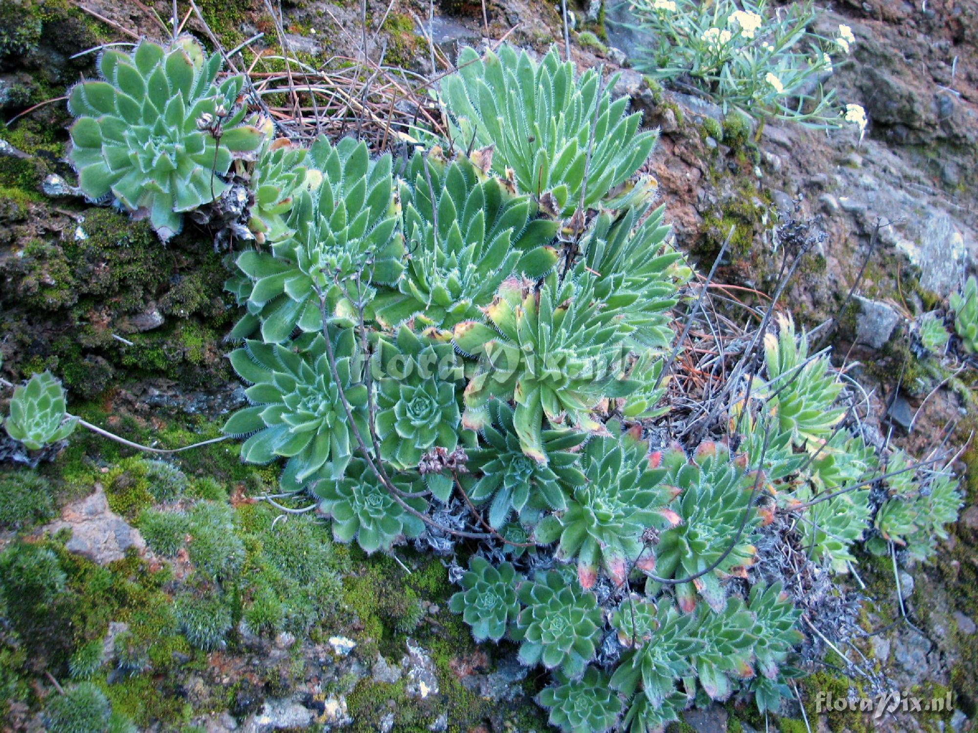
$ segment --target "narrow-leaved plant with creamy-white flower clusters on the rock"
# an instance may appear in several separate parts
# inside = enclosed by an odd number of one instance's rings
[[[865,114],[840,111],[835,93],[822,88],[832,73],[831,53],[848,54],[855,37],[847,25],[834,38],[808,30],[817,17],[810,2],[766,14],[767,2],[634,0],[637,29],[656,41],[636,67],[724,108],[808,126],[866,128]],[[858,106],[850,106],[858,107]],[[862,108],[860,108],[862,109]]]

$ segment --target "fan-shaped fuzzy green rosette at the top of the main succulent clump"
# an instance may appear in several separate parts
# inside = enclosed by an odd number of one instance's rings
[[[482,58],[466,48],[458,66],[441,90],[452,138],[493,147],[492,169],[523,194],[550,194],[555,214],[570,216],[581,199],[598,208],[655,145],[656,133],[639,131],[641,114],[625,113],[628,98],[611,101],[613,80],[602,87],[595,69],[575,78],[556,48],[539,63],[509,45]]]

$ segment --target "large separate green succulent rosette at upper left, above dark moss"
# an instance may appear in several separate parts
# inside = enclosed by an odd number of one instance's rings
[[[72,87],[68,160],[92,199],[109,194],[160,239],[179,234],[181,214],[220,197],[235,157],[252,155],[263,135],[242,125],[244,76],[215,83],[219,54],[181,36],[169,46],[142,40],[132,56],[103,51],[104,81]]]

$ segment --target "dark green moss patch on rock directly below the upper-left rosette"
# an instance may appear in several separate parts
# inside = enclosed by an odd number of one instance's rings
[[[165,375],[186,387],[228,377],[220,341],[234,314],[222,294],[226,271],[209,243],[184,237],[161,247],[145,222],[106,208],[82,218],[67,224],[77,226],[76,236],[27,240],[20,257],[0,263],[10,283],[0,294],[9,307],[4,330],[15,346],[8,367],[25,372],[33,355],[86,399],[102,393],[116,370]],[[141,330],[152,314],[162,325]]]

